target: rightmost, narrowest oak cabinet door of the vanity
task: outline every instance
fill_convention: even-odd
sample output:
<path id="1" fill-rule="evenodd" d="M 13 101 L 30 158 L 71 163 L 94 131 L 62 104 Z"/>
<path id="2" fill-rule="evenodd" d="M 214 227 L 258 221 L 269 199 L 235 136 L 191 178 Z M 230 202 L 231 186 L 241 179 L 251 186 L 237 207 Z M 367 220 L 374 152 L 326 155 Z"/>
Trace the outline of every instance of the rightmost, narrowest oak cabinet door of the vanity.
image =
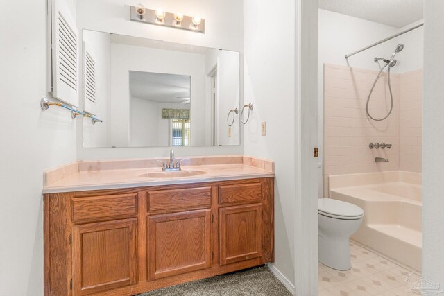
<path id="1" fill-rule="evenodd" d="M 220 265 L 262 256 L 261 204 L 219 209 Z"/>

